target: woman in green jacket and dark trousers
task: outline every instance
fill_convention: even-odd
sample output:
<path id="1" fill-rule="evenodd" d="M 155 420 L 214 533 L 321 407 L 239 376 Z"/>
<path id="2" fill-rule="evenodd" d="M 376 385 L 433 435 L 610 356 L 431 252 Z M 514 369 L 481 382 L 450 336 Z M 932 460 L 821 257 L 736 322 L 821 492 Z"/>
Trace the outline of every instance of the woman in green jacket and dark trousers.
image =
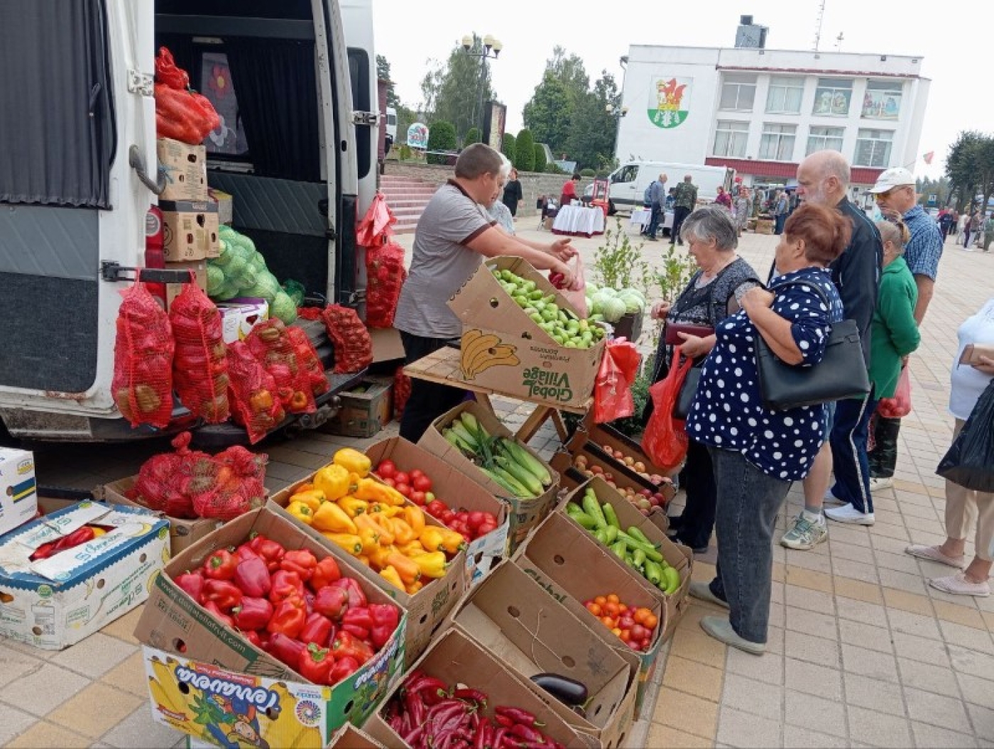
<path id="1" fill-rule="evenodd" d="M 874 312 L 870 344 L 870 379 L 874 397 L 894 397 L 901 370 L 908 355 L 918 348 L 921 336 L 914 322 L 914 305 L 918 289 L 905 258 L 908 227 L 901 222 L 877 222 L 884 244 L 884 272 L 880 277 L 877 310 Z M 894 468 L 898 462 L 898 433 L 901 419 L 874 414 L 873 437 L 876 443 L 870 452 L 870 488 L 886 489 L 894 484 Z"/>

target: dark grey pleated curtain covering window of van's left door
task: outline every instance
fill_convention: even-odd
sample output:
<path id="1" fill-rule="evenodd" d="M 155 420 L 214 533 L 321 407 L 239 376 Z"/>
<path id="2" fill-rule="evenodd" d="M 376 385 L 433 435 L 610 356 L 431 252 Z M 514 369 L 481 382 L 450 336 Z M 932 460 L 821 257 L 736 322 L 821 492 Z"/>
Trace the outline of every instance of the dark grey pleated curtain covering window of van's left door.
<path id="1" fill-rule="evenodd" d="M 0 2 L 0 203 L 110 208 L 106 33 L 103 0 Z"/>

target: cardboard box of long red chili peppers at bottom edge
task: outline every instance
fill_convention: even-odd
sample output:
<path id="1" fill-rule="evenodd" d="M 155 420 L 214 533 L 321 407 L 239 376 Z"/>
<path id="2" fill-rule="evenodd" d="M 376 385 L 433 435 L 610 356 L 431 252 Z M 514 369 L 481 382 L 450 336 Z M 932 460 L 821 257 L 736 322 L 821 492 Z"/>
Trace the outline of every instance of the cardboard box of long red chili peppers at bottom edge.
<path id="1" fill-rule="evenodd" d="M 431 644 L 363 728 L 387 746 L 413 749 L 596 745 L 458 630 Z"/>

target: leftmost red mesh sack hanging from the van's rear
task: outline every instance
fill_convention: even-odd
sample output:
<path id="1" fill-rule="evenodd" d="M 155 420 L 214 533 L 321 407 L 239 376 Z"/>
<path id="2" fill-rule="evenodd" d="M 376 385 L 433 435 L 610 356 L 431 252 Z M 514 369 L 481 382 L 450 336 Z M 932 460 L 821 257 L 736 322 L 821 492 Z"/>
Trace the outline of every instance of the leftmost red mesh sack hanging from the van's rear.
<path id="1" fill-rule="evenodd" d="M 173 341 L 169 316 L 136 282 L 121 292 L 114 341 L 114 403 L 131 426 L 163 429 L 173 415 Z"/>

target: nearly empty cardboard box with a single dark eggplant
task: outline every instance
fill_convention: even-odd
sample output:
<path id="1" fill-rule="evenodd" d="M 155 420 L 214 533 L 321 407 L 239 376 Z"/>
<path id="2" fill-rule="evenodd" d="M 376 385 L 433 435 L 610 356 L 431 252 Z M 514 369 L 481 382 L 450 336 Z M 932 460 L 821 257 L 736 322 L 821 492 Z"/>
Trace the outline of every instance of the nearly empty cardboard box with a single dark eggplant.
<path id="1" fill-rule="evenodd" d="M 517 674 L 579 733 L 603 747 L 625 746 L 635 714 L 638 665 L 622 657 L 509 561 L 498 564 L 449 615 L 452 627 Z M 586 685 L 581 717 L 534 682 L 555 673 Z"/>

